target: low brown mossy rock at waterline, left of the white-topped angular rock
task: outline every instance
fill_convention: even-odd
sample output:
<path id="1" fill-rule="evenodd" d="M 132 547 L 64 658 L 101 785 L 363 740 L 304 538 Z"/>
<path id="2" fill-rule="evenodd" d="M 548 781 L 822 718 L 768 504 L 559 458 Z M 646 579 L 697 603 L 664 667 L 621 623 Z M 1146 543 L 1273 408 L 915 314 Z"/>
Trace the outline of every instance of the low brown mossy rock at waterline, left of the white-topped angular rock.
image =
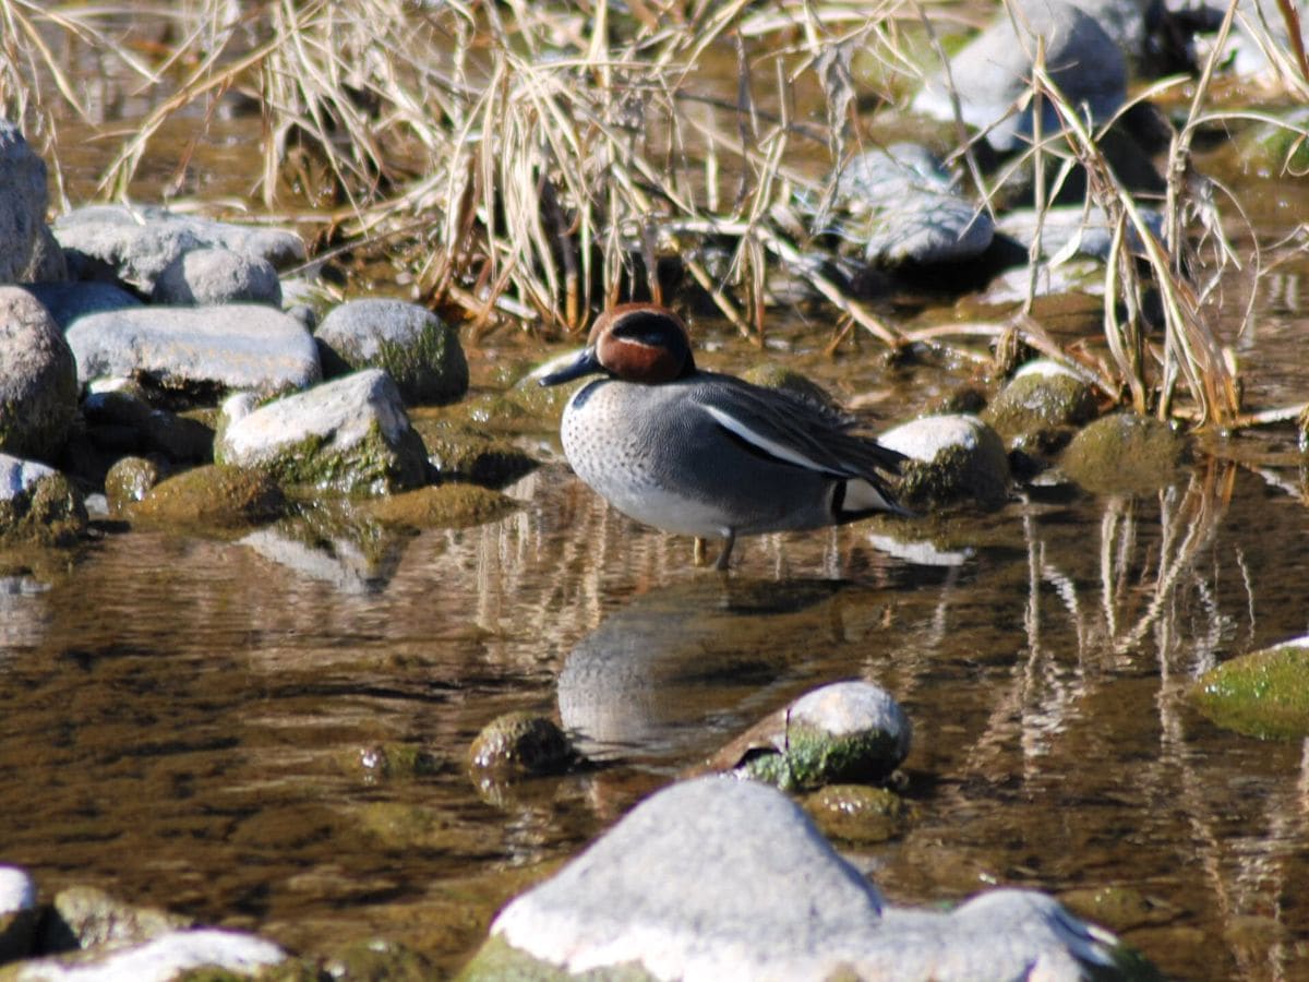
<path id="1" fill-rule="evenodd" d="M 147 522 L 230 530 L 274 521 L 285 507 L 281 488 L 266 471 L 209 464 L 160 482 L 130 515 Z"/>

